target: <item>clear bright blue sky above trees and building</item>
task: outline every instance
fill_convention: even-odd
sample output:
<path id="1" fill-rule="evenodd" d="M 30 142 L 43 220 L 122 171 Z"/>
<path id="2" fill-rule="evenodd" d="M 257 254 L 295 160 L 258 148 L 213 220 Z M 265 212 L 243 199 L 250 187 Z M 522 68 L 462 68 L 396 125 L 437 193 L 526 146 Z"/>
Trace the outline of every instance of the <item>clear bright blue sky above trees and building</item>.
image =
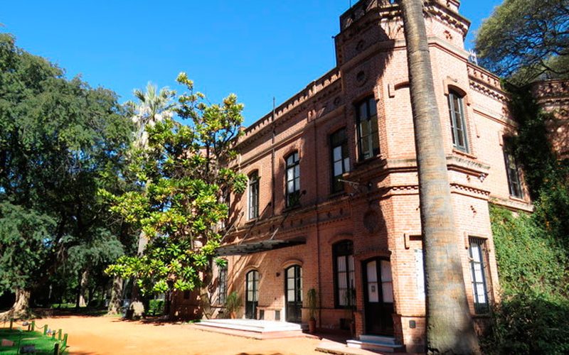
<path id="1" fill-rule="evenodd" d="M 219 102 L 245 104 L 245 124 L 335 65 L 339 15 L 349 0 L 5 0 L 0 31 L 17 45 L 114 90 L 120 102 L 151 81 L 176 88 L 185 71 Z M 355 0 L 353 2 L 356 2 Z M 501 0 L 462 0 L 474 31 Z"/>

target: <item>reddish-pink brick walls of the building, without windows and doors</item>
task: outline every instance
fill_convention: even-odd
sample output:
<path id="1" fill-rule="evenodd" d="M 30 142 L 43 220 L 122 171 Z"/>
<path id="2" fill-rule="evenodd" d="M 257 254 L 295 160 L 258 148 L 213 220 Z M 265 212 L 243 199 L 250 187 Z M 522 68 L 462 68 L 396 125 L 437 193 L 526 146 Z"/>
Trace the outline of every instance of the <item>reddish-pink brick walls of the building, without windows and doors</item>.
<path id="1" fill-rule="evenodd" d="M 275 310 L 285 320 L 285 269 L 301 266 L 303 301 L 309 288 L 318 291 L 317 327 L 337 330 L 351 312 L 335 307 L 332 249 L 336 242 L 350 240 L 355 259 L 356 333 L 368 332 L 364 262 L 383 258 L 390 261 L 393 278 L 393 337 L 408 351 L 420 351 L 425 341 L 425 299 L 418 280 L 422 238 L 405 41 L 400 18 L 388 1 L 360 1 L 356 7 L 362 4 L 366 12 L 351 24 L 342 22 L 342 31 L 336 35 L 339 66 L 277 107 L 275 116 L 267 114 L 252 124 L 240 140 L 237 168 L 246 174 L 258 170 L 261 215 L 254 220 L 248 220 L 247 213 L 241 219 L 235 217 L 247 211 L 248 192 L 233 196 L 233 220 L 238 222 L 228 244 L 271 238 L 302 239 L 305 244 L 228 256 L 229 292 L 235 290 L 244 299 L 245 275 L 257 270 L 258 309 L 265 311 L 265 320 L 274 319 Z M 468 237 L 486 241 L 485 273 L 490 298 L 496 300 L 499 284 L 488 202 L 528 211 L 531 202 L 528 197 L 509 195 L 502 137 L 515 133 L 516 121 L 506 109 L 507 97 L 498 78 L 467 62 L 463 41 L 468 23 L 455 12 L 458 5 L 458 1 L 431 4 L 427 31 L 457 224 L 456 246 L 474 314 Z M 467 153 L 452 146 L 447 99 L 452 91 L 464 102 Z M 359 161 L 355 104 L 370 96 L 377 102 L 380 154 Z M 340 128 L 346 129 L 349 142 L 351 172 L 344 179 L 351 183 L 345 184 L 344 193 L 331 194 L 329 135 Z M 302 195 L 299 207 L 286 209 L 285 159 L 293 151 L 299 152 Z M 302 321 L 307 320 L 304 309 Z"/>

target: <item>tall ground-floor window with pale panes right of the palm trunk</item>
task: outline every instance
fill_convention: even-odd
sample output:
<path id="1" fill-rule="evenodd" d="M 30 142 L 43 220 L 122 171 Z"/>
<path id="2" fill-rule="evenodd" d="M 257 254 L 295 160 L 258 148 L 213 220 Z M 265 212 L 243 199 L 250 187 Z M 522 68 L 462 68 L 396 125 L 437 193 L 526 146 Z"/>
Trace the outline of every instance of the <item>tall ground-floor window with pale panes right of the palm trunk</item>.
<path id="1" fill-rule="evenodd" d="M 470 271 L 472 272 L 472 294 L 474 312 L 489 312 L 488 288 L 486 285 L 486 261 L 484 258 L 484 239 L 469 238 Z"/>

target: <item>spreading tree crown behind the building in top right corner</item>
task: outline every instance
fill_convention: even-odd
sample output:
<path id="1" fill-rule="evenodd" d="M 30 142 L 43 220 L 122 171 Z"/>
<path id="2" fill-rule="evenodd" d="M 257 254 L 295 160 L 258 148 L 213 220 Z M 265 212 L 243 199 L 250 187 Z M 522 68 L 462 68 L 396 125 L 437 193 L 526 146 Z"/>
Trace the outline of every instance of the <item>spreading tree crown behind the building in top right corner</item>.
<path id="1" fill-rule="evenodd" d="M 568 77 L 568 18 L 568 0 L 505 0 L 477 33 L 481 64 L 516 84 Z"/>

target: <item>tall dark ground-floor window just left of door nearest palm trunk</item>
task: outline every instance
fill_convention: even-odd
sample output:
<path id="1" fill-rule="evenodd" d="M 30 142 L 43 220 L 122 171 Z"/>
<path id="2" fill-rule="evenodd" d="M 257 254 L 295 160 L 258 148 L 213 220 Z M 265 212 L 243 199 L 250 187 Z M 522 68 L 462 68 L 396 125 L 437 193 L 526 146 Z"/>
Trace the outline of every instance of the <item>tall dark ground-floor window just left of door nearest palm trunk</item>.
<path id="1" fill-rule="evenodd" d="M 336 286 L 336 306 L 353 307 L 356 301 L 353 278 L 353 243 L 340 241 L 333 246 L 334 285 Z"/>

